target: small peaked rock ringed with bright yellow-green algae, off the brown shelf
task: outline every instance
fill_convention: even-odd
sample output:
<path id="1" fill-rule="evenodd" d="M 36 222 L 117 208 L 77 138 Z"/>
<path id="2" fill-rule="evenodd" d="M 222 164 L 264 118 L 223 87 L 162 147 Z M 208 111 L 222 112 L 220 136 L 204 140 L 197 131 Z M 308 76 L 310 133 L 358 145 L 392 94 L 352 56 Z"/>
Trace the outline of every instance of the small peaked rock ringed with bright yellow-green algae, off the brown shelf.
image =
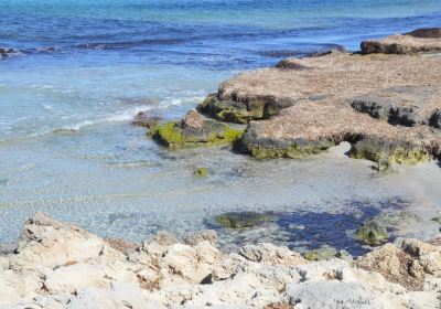
<path id="1" fill-rule="evenodd" d="M 149 135 L 171 149 L 179 149 L 233 143 L 241 137 L 243 130 L 204 120 L 195 110 L 190 110 L 181 121 L 160 125 L 152 128 Z"/>

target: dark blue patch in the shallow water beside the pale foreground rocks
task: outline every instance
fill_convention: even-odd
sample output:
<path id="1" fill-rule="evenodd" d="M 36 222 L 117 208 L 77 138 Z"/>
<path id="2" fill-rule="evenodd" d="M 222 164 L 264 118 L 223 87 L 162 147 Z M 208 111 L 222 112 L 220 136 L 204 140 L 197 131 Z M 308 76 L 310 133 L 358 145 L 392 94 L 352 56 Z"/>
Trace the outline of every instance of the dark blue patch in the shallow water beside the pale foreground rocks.
<path id="1" fill-rule="evenodd" d="M 408 202 L 401 199 L 375 203 L 351 201 L 346 211 L 338 212 L 266 212 L 263 214 L 277 219 L 250 228 L 223 228 L 213 222 L 206 222 L 206 225 L 218 232 L 220 246 L 226 248 L 233 247 L 232 244 L 240 247 L 250 243 L 271 242 L 297 252 L 333 247 L 336 251 L 345 249 L 356 257 L 369 252 L 369 247 L 355 238 L 355 232 L 362 223 L 385 210 L 398 211 L 406 204 Z"/>

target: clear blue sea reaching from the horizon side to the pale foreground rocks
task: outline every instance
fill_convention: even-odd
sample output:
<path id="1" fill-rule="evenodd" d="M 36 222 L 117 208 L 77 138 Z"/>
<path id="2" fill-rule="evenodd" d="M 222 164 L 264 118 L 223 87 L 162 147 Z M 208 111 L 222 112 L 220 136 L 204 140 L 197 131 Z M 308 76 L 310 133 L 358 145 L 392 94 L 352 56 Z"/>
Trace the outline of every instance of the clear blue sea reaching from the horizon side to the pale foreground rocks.
<path id="1" fill-rule="evenodd" d="M 438 0 L 0 0 L 0 46 L 18 51 L 0 60 L 0 242 L 17 238 L 39 210 L 140 241 L 160 228 L 204 228 L 224 211 L 304 213 L 291 215 L 295 222 L 315 213 L 326 222 L 330 213 L 411 203 L 418 196 L 400 177 L 375 177 L 366 162 L 170 152 L 130 119 L 140 110 L 174 119 L 239 71 L 333 44 L 356 50 L 363 39 L 440 20 Z M 193 177 L 200 166 L 209 168 L 207 179 Z M 314 246 L 306 236 L 293 242 L 283 224 L 219 233 L 225 246 Z M 326 228 L 316 233 L 327 241 L 315 245 L 351 234 Z"/>

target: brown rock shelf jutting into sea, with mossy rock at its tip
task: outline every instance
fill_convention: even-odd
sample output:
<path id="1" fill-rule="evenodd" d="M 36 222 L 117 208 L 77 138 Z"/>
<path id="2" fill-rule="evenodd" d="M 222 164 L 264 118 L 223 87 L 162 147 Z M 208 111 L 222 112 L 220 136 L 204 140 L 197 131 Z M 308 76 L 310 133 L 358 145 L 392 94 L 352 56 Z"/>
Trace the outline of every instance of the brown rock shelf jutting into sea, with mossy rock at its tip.
<path id="1" fill-rule="evenodd" d="M 332 51 L 238 74 L 196 109 L 222 122 L 246 125 L 244 134 L 218 139 L 219 125 L 211 122 L 214 131 L 193 127 L 190 142 L 180 143 L 212 145 L 207 136 L 214 135 L 215 145 L 233 142 L 255 158 L 303 158 L 348 141 L 352 158 L 377 162 L 379 170 L 439 159 L 440 33 L 420 29 L 362 42 L 361 53 Z M 180 129 L 159 128 L 166 126 Z M 158 140 L 176 148 L 166 139 Z"/>

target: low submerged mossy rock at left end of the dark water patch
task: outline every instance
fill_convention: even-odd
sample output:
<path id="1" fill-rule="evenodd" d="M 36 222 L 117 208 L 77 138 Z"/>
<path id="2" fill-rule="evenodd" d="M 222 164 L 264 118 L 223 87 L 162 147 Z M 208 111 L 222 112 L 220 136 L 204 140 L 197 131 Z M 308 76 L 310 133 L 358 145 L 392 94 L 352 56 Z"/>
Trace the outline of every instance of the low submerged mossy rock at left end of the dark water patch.
<path id="1" fill-rule="evenodd" d="M 252 227 L 273 220 L 272 215 L 255 212 L 230 212 L 216 216 L 216 222 L 227 228 Z"/>

